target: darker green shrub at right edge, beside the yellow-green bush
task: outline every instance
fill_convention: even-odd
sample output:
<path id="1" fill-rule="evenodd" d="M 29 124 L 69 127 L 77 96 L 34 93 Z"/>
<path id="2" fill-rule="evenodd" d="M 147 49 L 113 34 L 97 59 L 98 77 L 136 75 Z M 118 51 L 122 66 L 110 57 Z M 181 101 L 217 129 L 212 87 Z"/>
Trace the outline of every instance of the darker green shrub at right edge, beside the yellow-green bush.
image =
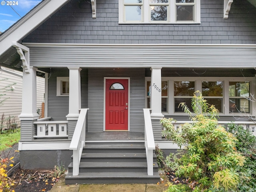
<path id="1" fill-rule="evenodd" d="M 256 137 L 251 130 L 236 124 L 228 124 L 228 131 L 236 137 L 236 150 L 245 157 L 244 166 L 239 169 L 239 192 L 256 191 Z"/>

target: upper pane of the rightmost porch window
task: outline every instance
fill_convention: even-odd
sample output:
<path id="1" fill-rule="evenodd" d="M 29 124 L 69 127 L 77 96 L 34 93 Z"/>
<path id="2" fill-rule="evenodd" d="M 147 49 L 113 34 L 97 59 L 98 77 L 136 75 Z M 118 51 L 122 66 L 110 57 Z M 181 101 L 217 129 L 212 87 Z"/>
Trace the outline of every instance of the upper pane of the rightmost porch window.
<path id="1" fill-rule="evenodd" d="M 248 97 L 250 96 L 249 82 L 229 82 L 230 97 Z"/>

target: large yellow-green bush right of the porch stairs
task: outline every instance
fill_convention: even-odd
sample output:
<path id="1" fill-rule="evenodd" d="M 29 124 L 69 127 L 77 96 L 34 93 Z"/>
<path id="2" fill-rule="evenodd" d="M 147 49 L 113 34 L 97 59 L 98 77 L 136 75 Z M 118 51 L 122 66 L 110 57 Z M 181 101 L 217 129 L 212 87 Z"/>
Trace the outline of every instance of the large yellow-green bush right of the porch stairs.
<path id="1" fill-rule="evenodd" d="M 165 128 L 162 135 L 185 149 L 180 158 L 168 161 L 178 164 L 176 175 L 186 180 L 183 184 L 170 184 L 166 191 L 238 191 L 237 170 L 244 165 L 245 158 L 236 151 L 237 139 L 218 124 L 218 110 L 200 92 L 195 92 L 192 98 L 194 115 L 185 103 L 180 106 L 190 115 L 191 123 L 180 128 L 174 127 L 172 118 L 163 118 L 160 123 Z"/>

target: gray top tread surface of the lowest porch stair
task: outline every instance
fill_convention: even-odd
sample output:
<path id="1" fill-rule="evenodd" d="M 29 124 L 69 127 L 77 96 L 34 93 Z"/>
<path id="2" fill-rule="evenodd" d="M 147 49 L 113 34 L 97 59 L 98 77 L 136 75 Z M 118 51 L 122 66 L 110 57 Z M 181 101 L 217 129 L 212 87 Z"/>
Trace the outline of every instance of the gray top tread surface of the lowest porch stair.
<path id="1" fill-rule="evenodd" d="M 82 172 L 78 176 L 68 173 L 65 178 L 160 178 L 160 176 L 158 172 L 154 172 L 153 175 L 148 175 L 146 172 Z"/>

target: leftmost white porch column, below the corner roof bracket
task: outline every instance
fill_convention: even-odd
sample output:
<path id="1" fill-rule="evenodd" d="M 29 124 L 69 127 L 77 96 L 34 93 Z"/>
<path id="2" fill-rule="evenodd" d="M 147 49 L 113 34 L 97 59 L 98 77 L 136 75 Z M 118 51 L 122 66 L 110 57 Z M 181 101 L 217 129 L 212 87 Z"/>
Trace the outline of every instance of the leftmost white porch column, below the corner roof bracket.
<path id="1" fill-rule="evenodd" d="M 35 120 L 39 115 L 36 113 L 36 70 L 30 66 L 30 72 L 23 68 L 22 78 L 22 112 L 20 120 Z"/>

